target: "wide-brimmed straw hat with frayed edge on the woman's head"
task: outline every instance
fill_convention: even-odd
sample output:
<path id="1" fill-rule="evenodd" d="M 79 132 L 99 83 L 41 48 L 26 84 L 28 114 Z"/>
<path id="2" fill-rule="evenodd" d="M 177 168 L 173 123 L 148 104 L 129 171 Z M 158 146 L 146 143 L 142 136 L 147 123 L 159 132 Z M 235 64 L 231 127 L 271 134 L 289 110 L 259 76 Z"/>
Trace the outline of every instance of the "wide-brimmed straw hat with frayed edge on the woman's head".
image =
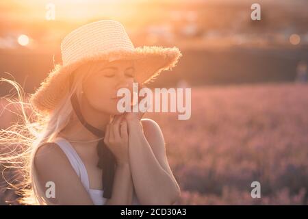
<path id="1" fill-rule="evenodd" d="M 36 110 L 51 112 L 69 89 L 69 75 L 89 61 L 135 60 L 136 80 L 153 81 L 163 70 L 171 70 L 181 57 L 177 47 L 135 48 L 118 21 L 101 20 L 70 32 L 61 43 L 62 64 L 56 64 L 40 87 L 30 94 Z"/>

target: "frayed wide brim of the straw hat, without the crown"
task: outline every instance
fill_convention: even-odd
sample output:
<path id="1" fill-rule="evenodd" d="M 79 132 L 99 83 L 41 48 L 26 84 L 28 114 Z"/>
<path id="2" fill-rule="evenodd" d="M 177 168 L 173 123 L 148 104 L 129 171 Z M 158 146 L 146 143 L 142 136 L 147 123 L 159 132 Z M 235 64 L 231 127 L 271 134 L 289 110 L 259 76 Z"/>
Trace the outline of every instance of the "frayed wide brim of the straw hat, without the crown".
<path id="1" fill-rule="evenodd" d="M 68 76 L 79 66 L 87 62 L 106 60 L 135 60 L 136 81 L 149 83 L 164 70 L 171 70 L 182 56 L 177 47 L 137 47 L 133 51 L 102 51 L 94 55 L 83 57 L 67 66 L 55 65 L 48 77 L 40 83 L 40 87 L 30 94 L 29 101 L 41 112 L 51 112 L 57 107 L 65 92 L 68 92 Z"/>

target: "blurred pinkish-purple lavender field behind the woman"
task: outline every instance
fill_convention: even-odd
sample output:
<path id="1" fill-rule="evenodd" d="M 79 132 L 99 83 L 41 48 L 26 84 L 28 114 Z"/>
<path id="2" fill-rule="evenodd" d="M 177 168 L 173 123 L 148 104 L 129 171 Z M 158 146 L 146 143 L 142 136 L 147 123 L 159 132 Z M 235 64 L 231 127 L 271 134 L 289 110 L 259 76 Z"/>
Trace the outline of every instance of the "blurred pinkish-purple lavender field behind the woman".
<path id="1" fill-rule="evenodd" d="M 180 205 L 307 205 L 307 109 L 308 84 L 268 83 L 192 88 L 190 120 L 145 117 L 164 133 Z"/>

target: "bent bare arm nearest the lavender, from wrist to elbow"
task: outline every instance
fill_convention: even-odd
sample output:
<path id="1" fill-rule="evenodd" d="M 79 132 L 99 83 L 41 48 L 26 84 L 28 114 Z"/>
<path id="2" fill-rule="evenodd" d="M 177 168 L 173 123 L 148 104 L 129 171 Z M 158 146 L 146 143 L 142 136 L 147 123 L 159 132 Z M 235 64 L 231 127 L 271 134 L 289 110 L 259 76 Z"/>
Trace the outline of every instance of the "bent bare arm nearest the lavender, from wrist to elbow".
<path id="1" fill-rule="evenodd" d="M 180 189 L 168 166 L 162 131 L 153 120 L 134 120 L 128 125 L 129 162 L 140 203 L 172 205 L 178 200 Z M 148 129 L 146 133 L 142 126 Z"/>

